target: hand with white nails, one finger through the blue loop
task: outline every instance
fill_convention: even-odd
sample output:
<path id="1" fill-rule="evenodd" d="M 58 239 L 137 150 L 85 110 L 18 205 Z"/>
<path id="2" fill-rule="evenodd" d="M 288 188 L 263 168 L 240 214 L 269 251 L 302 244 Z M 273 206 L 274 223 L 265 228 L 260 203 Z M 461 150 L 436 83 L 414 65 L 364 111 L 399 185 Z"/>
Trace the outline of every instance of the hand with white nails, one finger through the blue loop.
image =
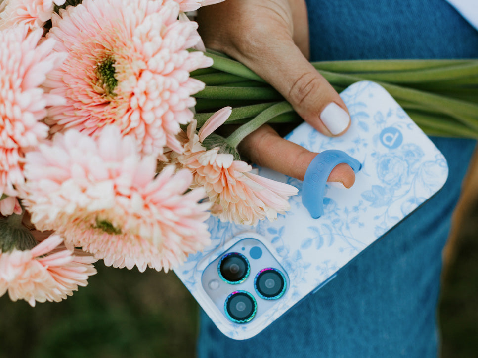
<path id="1" fill-rule="evenodd" d="M 328 136 L 350 126 L 344 102 L 309 63 L 304 0 L 227 0 L 198 11 L 199 32 L 208 48 L 242 62 L 274 86 L 310 125 Z M 304 179 L 316 153 L 281 138 L 264 125 L 239 150 L 255 163 Z M 355 174 L 339 164 L 329 176 L 346 187 Z"/>

